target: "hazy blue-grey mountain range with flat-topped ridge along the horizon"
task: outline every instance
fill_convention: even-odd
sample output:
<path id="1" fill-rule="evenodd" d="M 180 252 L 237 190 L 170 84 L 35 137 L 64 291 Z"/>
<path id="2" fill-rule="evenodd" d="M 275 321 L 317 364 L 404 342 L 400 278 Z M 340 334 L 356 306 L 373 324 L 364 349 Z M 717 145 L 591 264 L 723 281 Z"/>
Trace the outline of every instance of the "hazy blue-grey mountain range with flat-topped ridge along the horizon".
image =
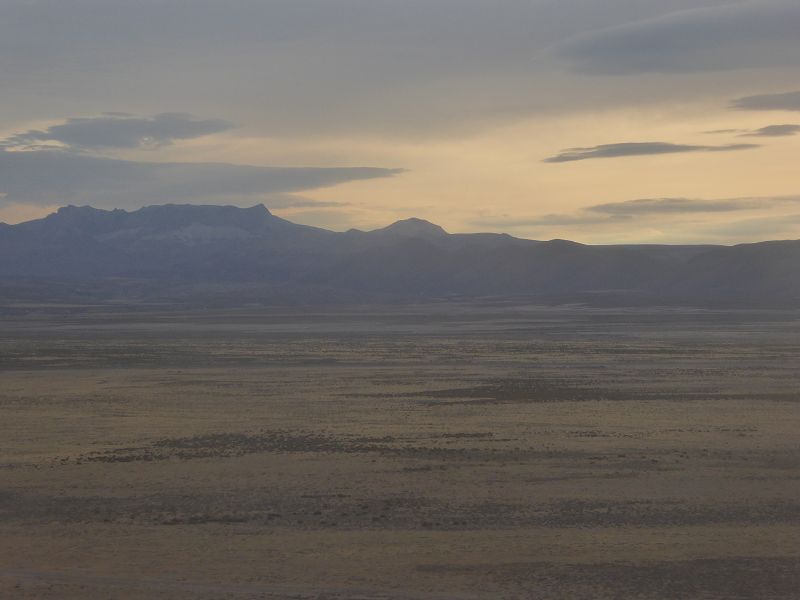
<path id="1" fill-rule="evenodd" d="M 68 206 L 0 226 L 6 300 L 407 301 L 526 296 L 800 307 L 800 242 L 587 246 L 449 234 L 421 219 L 337 233 L 263 206 Z"/>

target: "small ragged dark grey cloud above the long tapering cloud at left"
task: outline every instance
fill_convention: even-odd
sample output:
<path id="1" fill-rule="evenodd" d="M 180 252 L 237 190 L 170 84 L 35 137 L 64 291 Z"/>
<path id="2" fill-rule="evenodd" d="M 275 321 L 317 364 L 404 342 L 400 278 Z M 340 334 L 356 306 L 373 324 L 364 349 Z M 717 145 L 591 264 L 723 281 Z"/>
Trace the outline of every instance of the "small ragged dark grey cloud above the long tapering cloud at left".
<path id="1" fill-rule="evenodd" d="M 100 117 L 71 118 L 47 129 L 18 133 L 0 142 L 6 147 L 36 148 L 57 142 L 67 148 L 156 148 L 175 140 L 188 140 L 231 129 L 222 119 L 196 119 L 185 113 L 138 117 L 106 113 Z"/>

